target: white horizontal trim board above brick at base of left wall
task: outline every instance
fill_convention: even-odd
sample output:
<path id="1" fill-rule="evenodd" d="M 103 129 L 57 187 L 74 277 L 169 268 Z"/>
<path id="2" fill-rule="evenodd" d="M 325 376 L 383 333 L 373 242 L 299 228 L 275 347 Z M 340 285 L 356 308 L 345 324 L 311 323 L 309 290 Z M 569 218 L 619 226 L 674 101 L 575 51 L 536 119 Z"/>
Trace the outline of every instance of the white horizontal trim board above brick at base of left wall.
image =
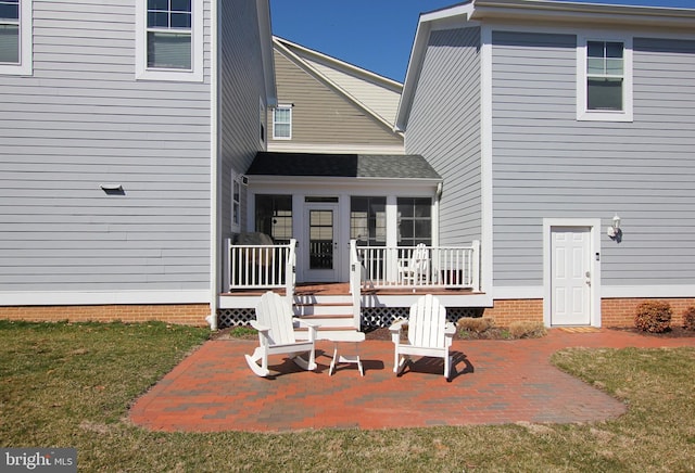
<path id="1" fill-rule="evenodd" d="M 210 291 L 42 291 L 1 292 L 2 306 L 93 306 L 135 304 L 210 304 Z"/>

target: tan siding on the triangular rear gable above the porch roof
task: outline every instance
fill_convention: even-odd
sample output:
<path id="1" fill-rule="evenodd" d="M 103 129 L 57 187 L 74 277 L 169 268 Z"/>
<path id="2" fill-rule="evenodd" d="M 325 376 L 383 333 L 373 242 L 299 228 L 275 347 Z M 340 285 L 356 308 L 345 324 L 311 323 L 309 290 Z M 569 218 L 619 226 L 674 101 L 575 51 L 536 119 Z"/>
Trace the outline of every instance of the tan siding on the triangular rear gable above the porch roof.
<path id="1" fill-rule="evenodd" d="M 403 140 L 344 95 L 275 51 L 279 104 L 293 104 L 292 143 L 402 145 Z M 273 140 L 273 112 L 268 113 Z"/>

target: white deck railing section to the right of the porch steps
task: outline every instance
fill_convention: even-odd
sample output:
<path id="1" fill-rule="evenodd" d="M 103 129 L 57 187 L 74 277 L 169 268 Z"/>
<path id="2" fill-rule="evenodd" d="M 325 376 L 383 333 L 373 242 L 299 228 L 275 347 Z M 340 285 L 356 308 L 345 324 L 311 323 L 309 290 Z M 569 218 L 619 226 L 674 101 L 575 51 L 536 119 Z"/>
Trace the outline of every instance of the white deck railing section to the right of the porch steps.
<path id="1" fill-rule="evenodd" d="M 353 261 L 353 257 L 357 261 Z M 351 252 L 351 265 L 353 263 L 362 266 L 362 279 L 367 287 L 480 291 L 479 241 L 470 246 L 356 246 L 355 252 Z"/>

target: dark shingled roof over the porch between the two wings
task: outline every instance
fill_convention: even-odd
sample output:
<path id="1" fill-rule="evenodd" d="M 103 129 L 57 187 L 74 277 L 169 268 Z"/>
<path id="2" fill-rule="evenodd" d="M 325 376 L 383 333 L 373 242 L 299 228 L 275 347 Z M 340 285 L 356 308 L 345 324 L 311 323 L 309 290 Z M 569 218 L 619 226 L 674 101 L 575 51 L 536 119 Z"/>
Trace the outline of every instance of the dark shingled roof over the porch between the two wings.
<path id="1" fill-rule="evenodd" d="M 330 154 L 258 152 L 248 176 L 416 179 L 442 177 L 419 154 Z"/>

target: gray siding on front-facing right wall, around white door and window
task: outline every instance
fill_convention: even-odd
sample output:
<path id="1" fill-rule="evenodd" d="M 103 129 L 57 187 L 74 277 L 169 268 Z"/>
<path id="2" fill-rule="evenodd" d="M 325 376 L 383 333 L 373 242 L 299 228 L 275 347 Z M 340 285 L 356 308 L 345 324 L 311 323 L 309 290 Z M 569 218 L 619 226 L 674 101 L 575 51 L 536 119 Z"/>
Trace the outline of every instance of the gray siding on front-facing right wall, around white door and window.
<path id="1" fill-rule="evenodd" d="M 604 285 L 695 283 L 695 41 L 633 41 L 634 123 L 592 123 L 574 35 L 493 35 L 496 286 L 542 284 L 544 217 L 602 219 Z"/>

